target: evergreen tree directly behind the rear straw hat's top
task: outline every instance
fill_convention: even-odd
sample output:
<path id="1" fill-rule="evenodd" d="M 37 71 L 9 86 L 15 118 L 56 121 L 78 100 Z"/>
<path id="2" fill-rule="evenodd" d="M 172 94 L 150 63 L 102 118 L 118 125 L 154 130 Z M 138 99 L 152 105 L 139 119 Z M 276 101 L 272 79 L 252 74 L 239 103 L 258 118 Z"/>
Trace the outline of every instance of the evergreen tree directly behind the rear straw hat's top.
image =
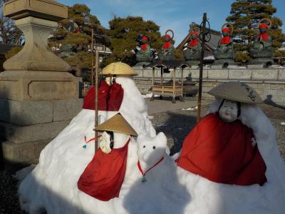
<path id="1" fill-rule="evenodd" d="M 160 36 L 160 26 L 153 21 L 144 21 L 142 17 L 128 16 L 126 18 L 114 17 L 109 21 L 110 48 L 113 54 L 104 61 L 104 66 L 113 61 L 124 61 L 130 65 L 135 63 L 131 50 L 138 46 L 136 41 L 139 34 L 150 36 L 150 46 L 159 51 L 163 41 Z"/>

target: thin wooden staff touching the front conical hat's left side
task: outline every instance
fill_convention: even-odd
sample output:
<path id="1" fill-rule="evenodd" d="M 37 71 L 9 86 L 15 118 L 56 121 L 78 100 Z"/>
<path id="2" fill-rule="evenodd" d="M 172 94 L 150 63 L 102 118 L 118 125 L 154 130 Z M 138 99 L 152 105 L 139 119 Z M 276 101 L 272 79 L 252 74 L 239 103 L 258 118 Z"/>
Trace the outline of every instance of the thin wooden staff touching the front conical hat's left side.
<path id="1" fill-rule="evenodd" d="M 95 53 L 95 128 L 98 126 L 98 79 L 99 79 L 99 51 Z M 98 150 L 98 132 L 95 131 L 95 151 Z"/>

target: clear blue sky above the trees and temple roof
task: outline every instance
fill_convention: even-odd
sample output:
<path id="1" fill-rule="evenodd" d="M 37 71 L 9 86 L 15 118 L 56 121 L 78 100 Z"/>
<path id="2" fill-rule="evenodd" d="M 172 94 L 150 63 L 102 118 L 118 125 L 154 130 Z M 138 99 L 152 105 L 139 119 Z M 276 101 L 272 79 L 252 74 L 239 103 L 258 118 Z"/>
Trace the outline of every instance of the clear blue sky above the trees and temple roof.
<path id="1" fill-rule="evenodd" d="M 229 16 L 231 4 L 234 0 L 57 0 L 62 4 L 86 4 L 91 14 L 97 16 L 100 23 L 108 28 L 108 21 L 113 16 L 142 16 L 144 20 L 155 21 L 160 26 L 161 34 L 167 29 L 175 32 L 177 46 L 187 35 L 189 24 L 195 21 L 200 24 L 204 12 L 211 24 L 211 28 L 218 30 Z M 278 16 L 283 22 L 285 32 L 285 0 L 273 0 Z"/>

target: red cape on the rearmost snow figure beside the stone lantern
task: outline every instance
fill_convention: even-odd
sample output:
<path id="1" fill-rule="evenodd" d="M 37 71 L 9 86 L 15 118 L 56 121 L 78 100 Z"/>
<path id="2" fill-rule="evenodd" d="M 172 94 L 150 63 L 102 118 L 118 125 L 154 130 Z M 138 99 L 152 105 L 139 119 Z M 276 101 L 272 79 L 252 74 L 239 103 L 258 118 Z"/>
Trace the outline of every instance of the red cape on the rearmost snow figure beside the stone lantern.
<path id="1" fill-rule="evenodd" d="M 123 102 L 124 90 L 122 86 L 114 82 L 111 86 L 106 81 L 101 81 L 98 89 L 98 110 L 119 111 Z M 92 86 L 86 94 L 83 103 L 84 109 L 95 109 L 95 86 Z"/>

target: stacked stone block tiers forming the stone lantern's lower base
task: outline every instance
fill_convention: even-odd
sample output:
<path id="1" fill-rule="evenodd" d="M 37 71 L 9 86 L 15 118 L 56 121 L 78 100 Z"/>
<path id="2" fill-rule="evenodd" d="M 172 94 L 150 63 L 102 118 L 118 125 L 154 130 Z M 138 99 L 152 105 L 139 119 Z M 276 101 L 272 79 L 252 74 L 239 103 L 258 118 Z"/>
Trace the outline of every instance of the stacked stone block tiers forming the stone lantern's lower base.
<path id="1" fill-rule="evenodd" d="M 0 142 L 4 164 L 36 163 L 41 150 L 82 109 L 83 99 L 14 101 L 0 98 Z"/>

